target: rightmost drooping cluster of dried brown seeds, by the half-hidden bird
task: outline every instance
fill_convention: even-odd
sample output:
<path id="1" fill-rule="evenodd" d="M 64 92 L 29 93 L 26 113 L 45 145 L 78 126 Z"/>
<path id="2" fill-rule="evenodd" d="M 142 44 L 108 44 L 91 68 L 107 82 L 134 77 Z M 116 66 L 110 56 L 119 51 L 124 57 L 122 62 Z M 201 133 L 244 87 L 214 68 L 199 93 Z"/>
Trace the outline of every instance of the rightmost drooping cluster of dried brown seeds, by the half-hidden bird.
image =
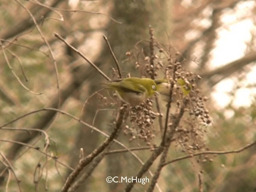
<path id="1" fill-rule="evenodd" d="M 180 66 L 180 63 L 176 63 L 169 65 L 166 70 L 169 80 L 177 86 L 174 86 L 172 93 L 172 98 L 179 98 L 173 102 L 175 111 L 184 107 L 182 98 L 187 97 L 189 101 L 186 105 L 186 113 L 176 127 L 173 138 L 176 146 L 181 147 L 183 152 L 192 154 L 206 148 L 206 126 L 211 123 L 211 120 L 204 104 L 207 98 L 200 96 L 200 90 L 196 87 L 196 81 L 200 80 L 200 76 L 186 72 Z M 182 79 L 184 84 L 179 84 L 178 79 Z"/>

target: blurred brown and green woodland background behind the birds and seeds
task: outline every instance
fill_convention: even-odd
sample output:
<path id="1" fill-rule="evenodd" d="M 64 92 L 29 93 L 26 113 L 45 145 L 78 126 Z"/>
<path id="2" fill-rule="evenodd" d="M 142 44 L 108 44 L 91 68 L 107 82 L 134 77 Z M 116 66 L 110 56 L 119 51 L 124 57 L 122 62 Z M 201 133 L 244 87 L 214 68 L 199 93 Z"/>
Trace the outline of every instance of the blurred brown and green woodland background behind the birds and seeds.
<path id="1" fill-rule="evenodd" d="M 58 108 L 112 132 L 113 108 L 106 110 L 102 93 L 95 94 L 105 79 L 54 32 L 112 77 L 116 65 L 106 35 L 122 72 L 140 76 L 129 55 L 148 46 L 151 25 L 158 42 L 180 53 L 182 67 L 202 76 L 198 87 L 210 98 L 213 121 L 206 148 L 236 150 L 255 140 L 254 0 L 1 0 L 0 7 L 0 190 L 60 191 L 79 162 L 80 148 L 86 156 L 105 139 L 69 116 L 40 109 Z M 118 136 L 129 148 L 146 145 L 129 139 L 123 131 Z M 122 149 L 115 143 L 110 148 Z M 146 162 L 152 152 L 134 153 Z M 168 160 L 186 154 L 172 146 Z M 134 176 L 142 166 L 130 152 L 99 157 L 98 163 L 92 173 L 93 165 L 85 169 L 88 178 L 76 191 L 123 191 L 127 183 L 108 184 L 106 177 Z M 154 191 L 253 191 L 255 163 L 255 146 L 176 161 L 164 166 Z M 136 184 L 133 190 L 148 186 Z"/>

